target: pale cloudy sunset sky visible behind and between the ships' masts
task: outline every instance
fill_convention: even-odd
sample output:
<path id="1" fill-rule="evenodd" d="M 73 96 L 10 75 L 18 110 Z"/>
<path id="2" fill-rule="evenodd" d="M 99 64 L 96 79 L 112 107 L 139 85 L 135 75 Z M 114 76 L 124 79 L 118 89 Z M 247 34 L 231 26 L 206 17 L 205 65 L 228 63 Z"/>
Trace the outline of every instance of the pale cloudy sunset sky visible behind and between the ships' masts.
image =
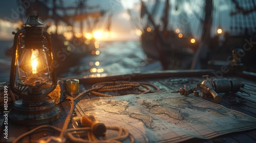
<path id="1" fill-rule="evenodd" d="M 25 1 L 31 1 L 31 0 L 25 0 Z M 64 1 L 64 6 L 75 6 L 77 1 Z M 151 3 L 152 0 L 144 0 L 145 3 Z M 163 7 L 164 0 L 160 0 L 161 6 Z M 198 20 L 196 20 L 196 17 L 193 13 L 201 13 L 202 11 L 202 0 L 193 1 L 193 5 L 189 3 L 184 3 L 184 9 L 186 10 L 186 13 L 188 14 L 188 20 L 191 22 L 191 30 L 193 33 L 196 32 L 196 28 L 198 27 Z M 227 6 L 229 3 L 226 1 L 221 1 L 221 10 L 227 11 Z M 12 40 L 13 35 L 11 34 L 12 31 L 16 31 L 16 28 L 23 23 L 23 21 L 26 20 L 27 17 L 23 18 L 23 21 L 21 21 L 17 14 L 18 12 L 22 11 L 22 9 L 19 9 L 19 2 L 16 1 L 3 1 L 2 5 L 0 6 L 0 39 L 1 40 Z M 107 14 L 113 13 L 112 16 L 112 24 L 111 24 L 111 31 L 106 32 L 105 27 L 98 26 L 97 29 L 94 29 L 95 31 L 101 31 L 102 32 L 102 40 L 139 40 L 139 36 L 141 34 L 141 31 L 139 29 L 136 29 L 131 22 L 130 16 L 127 13 L 127 9 L 132 9 L 133 13 L 135 14 L 135 17 L 139 19 L 140 14 L 140 0 L 89 0 L 87 1 L 87 4 L 89 6 L 99 6 L 99 8 L 96 8 L 96 10 L 105 10 Z M 174 0 L 170 1 L 170 4 L 175 4 Z M 226 12 L 227 13 L 227 12 Z M 160 20 L 162 12 L 159 14 L 158 18 Z M 177 15 L 177 12 L 174 10 L 170 11 L 170 14 Z M 173 16 L 175 17 L 175 16 Z M 173 18 L 172 17 L 172 18 Z M 223 18 L 224 17 L 224 18 Z M 228 17 L 225 18 L 223 16 L 223 23 L 225 23 L 226 27 L 229 23 Z M 107 20 L 107 16 L 104 17 L 101 22 L 104 23 Z M 43 21 L 46 23 L 49 21 L 48 19 L 46 21 Z M 172 21 L 173 27 L 175 27 L 175 22 Z M 76 23 L 76 25 L 73 27 L 73 30 L 76 32 L 79 32 L 79 23 Z M 84 25 L 84 28 L 87 26 Z M 65 26 L 59 27 L 59 29 L 67 29 Z M 55 27 L 52 26 L 50 30 L 55 31 Z M 88 33 L 88 31 L 83 31 L 84 33 Z M 93 33 L 92 33 L 93 34 Z"/>

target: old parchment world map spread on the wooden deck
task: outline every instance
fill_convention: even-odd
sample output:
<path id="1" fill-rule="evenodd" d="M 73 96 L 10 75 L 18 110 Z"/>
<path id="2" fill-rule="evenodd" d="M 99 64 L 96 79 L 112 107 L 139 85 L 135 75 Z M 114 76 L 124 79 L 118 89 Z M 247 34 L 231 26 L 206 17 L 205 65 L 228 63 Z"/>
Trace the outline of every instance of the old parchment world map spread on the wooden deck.
<path id="1" fill-rule="evenodd" d="M 106 126 L 127 128 L 137 142 L 209 139 L 256 128 L 254 117 L 170 92 L 82 100 L 76 111 L 94 114 Z"/>

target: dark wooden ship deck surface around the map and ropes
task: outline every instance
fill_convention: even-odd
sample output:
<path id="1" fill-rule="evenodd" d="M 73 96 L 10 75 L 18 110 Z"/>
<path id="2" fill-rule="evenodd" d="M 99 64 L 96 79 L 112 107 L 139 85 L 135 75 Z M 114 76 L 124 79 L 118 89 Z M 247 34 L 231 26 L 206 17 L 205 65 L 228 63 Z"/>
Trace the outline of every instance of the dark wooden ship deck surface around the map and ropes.
<path id="1" fill-rule="evenodd" d="M 93 84 L 99 82 L 116 82 L 116 81 L 130 81 L 130 82 L 146 82 L 151 83 L 157 86 L 160 90 L 165 91 L 174 91 L 183 87 L 183 85 L 189 85 L 196 87 L 197 83 L 201 83 L 205 78 L 202 78 L 203 75 L 209 75 L 210 77 L 214 77 L 212 74 L 212 70 L 167 70 L 167 71 L 159 71 L 154 73 L 136 73 L 136 74 L 126 74 L 126 75 L 103 75 L 101 77 L 72 77 L 74 79 L 79 79 L 79 92 L 81 93 L 84 90 L 90 89 Z M 240 93 L 240 96 L 244 98 L 244 102 L 230 102 L 230 95 L 222 93 L 223 101 L 219 104 L 220 106 L 224 106 L 231 110 L 236 110 L 251 117 L 256 118 L 256 76 L 253 73 L 237 73 L 237 74 L 226 74 L 223 78 L 237 78 L 239 81 L 243 82 L 245 86 L 243 90 L 250 94 L 243 97 L 244 93 Z M 67 80 L 61 79 L 63 81 Z M 124 96 L 127 94 L 136 94 L 134 90 L 125 90 L 125 91 L 112 91 L 108 92 L 109 94 L 119 94 L 119 96 Z M 163 92 L 164 93 L 164 92 Z M 161 94 L 161 93 L 158 93 Z M 190 95 L 191 96 L 191 95 Z M 94 96 L 93 94 L 89 94 L 87 96 L 82 97 L 81 100 L 97 98 L 98 96 Z M 232 97 L 232 96 L 231 96 Z M 189 98 L 189 97 L 188 97 Z M 203 98 L 205 101 L 212 102 L 211 98 Z M 171 104 L 171 103 L 170 103 Z M 49 125 L 62 128 L 63 123 L 65 122 L 65 118 L 67 117 L 70 111 L 70 103 L 69 100 L 64 99 L 60 104 L 57 104 L 61 109 L 60 117 L 58 120 L 49 123 Z M 78 106 L 76 106 L 78 107 Z M 75 109 L 73 112 L 73 120 L 74 118 L 80 117 L 82 115 L 78 109 Z M 1 127 L 2 131 L 5 126 L 4 116 L 1 116 Z M 120 119 L 121 120 L 121 119 Z M 102 121 L 104 123 L 104 121 Z M 256 123 L 255 123 L 256 124 Z M 75 122 L 71 120 L 68 125 L 68 128 L 75 128 Z M 20 126 L 15 125 L 11 122 L 8 123 L 8 139 L 4 138 L 3 132 L 1 133 L 0 142 L 12 142 L 17 136 L 31 131 L 35 129 L 37 126 Z M 36 142 L 39 138 L 54 135 L 58 136 L 59 132 L 54 131 L 44 131 L 40 130 L 35 132 L 34 134 L 28 135 L 24 137 L 20 142 Z M 135 138 L 136 140 L 136 138 Z M 126 140 L 127 141 L 127 140 Z M 129 142 L 129 141 L 128 141 Z M 183 142 L 256 142 L 256 129 L 239 131 L 227 133 L 224 135 L 219 135 L 210 139 L 200 139 L 200 138 L 189 138 Z"/>

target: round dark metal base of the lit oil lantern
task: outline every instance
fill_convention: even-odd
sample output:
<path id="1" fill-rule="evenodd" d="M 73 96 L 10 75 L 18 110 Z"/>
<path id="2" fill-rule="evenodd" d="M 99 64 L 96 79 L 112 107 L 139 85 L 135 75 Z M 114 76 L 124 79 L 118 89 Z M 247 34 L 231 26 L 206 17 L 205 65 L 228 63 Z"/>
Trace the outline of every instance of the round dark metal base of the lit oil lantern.
<path id="1" fill-rule="evenodd" d="M 42 125 L 57 120 L 59 113 L 60 108 L 50 98 L 37 103 L 25 103 L 20 99 L 13 104 L 8 116 L 14 124 Z"/>

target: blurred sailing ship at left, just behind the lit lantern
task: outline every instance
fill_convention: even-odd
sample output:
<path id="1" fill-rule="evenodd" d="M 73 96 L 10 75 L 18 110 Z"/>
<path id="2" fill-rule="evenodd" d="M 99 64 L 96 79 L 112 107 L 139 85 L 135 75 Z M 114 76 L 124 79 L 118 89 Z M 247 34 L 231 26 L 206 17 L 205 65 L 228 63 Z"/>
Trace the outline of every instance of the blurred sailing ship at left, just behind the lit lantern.
<path id="1" fill-rule="evenodd" d="M 69 67 L 80 64 L 81 58 L 90 55 L 97 48 L 98 42 L 93 37 L 93 32 L 99 27 L 109 28 L 111 20 L 109 18 L 108 25 L 105 25 L 106 22 L 102 21 L 108 16 L 107 13 L 99 6 L 92 7 L 86 1 L 80 0 L 72 5 L 65 4 L 63 0 L 38 0 L 22 6 L 26 12 L 20 15 L 20 18 L 36 13 L 39 19 L 46 23 L 45 31 L 53 39 L 58 76 L 65 73 Z"/>

